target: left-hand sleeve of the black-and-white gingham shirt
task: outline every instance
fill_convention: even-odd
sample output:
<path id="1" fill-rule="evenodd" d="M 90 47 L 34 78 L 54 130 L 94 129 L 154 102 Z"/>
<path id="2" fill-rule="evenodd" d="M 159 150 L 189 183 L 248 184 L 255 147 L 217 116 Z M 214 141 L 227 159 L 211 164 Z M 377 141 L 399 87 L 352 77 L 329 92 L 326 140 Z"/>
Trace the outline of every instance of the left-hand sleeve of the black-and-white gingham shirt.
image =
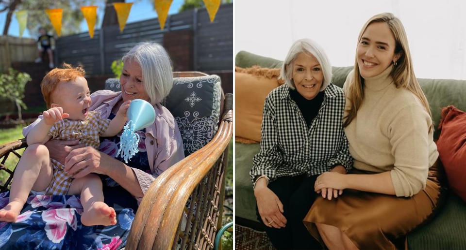
<path id="1" fill-rule="evenodd" d="M 250 171 L 252 182 L 257 176 L 267 176 L 270 181 L 276 178 L 276 170 L 283 162 L 282 153 L 278 150 L 278 136 L 274 103 L 269 95 L 264 103 L 261 149 L 252 159 L 252 169 Z"/>

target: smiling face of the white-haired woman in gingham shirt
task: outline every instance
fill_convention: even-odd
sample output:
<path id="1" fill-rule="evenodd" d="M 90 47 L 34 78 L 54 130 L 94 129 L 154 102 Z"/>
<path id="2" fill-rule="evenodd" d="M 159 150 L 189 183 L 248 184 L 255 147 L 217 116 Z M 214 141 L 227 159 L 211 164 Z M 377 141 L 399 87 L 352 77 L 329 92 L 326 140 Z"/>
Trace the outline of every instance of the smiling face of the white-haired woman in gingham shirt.
<path id="1" fill-rule="evenodd" d="M 301 52 L 291 62 L 292 79 L 296 90 L 307 100 L 311 100 L 320 91 L 324 75 L 316 57 Z"/>

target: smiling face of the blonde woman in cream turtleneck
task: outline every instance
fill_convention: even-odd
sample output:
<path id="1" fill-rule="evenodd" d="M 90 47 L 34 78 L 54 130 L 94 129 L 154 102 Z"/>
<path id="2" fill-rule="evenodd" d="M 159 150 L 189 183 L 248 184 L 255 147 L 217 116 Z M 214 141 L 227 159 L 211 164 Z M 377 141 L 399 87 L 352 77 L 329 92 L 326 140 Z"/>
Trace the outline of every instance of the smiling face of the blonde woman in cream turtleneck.
<path id="1" fill-rule="evenodd" d="M 367 26 L 356 51 L 361 75 L 376 76 L 397 61 L 400 54 L 395 54 L 395 46 L 395 38 L 386 23 L 374 22 Z"/>

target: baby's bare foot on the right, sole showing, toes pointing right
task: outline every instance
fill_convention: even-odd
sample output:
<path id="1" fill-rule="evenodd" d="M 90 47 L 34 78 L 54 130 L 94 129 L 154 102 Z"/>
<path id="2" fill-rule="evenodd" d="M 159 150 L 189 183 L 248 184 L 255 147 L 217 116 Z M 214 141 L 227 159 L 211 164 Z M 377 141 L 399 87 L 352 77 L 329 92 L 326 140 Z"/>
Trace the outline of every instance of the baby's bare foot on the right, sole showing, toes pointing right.
<path id="1" fill-rule="evenodd" d="M 85 226 L 93 225 L 115 225 L 115 209 L 103 202 L 95 202 L 92 206 L 81 215 L 81 223 Z"/>

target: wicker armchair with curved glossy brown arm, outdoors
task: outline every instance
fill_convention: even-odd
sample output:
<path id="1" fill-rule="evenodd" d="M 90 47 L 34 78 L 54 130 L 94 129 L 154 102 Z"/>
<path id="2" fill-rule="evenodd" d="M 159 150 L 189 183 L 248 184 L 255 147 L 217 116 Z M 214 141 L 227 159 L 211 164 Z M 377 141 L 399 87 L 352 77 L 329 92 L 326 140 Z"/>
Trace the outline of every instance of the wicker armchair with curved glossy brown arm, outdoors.
<path id="1" fill-rule="evenodd" d="M 174 77 L 201 75 L 206 74 L 174 73 Z M 150 185 L 135 215 L 126 250 L 214 248 L 217 230 L 222 226 L 224 173 L 228 143 L 233 135 L 232 108 L 233 94 L 225 98 L 222 94 L 215 137 L 168 168 Z M 5 161 L 9 157 L 19 160 L 17 150 L 24 147 L 27 147 L 24 138 L 0 146 L 0 171 L 10 175 L 0 191 L 7 189 L 13 177 Z M 188 200 L 190 205 L 186 206 Z"/>

